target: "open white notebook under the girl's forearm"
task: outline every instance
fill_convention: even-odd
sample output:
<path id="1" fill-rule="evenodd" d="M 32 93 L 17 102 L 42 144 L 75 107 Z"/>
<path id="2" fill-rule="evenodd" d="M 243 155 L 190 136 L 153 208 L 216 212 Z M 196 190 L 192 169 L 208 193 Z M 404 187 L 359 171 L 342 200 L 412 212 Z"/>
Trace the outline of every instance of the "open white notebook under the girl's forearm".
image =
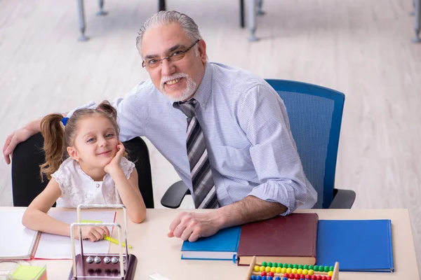
<path id="1" fill-rule="evenodd" d="M 22 225 L 25 209 L 0 211 L 0 259 L 31 260 L 70 259 L 72 258 L 72 241 L 70 237 L 51 235 L 45 232 L 29 230 Z M 50 211 L 48 215 L 65 223 L 76 223 L 76 211 Z M 82 212 L 81 219 L 114 223 L 115 211 Z M 7 225 L 7 226 L 6 226 Z M 109 228 L 112 232 L 112 228 Z M 75 239 L 75 253 L 80 253 L 79 240 Z M 109 241 L 91 242 L 83 240 L 83 253 L 108 253 Z"/>

